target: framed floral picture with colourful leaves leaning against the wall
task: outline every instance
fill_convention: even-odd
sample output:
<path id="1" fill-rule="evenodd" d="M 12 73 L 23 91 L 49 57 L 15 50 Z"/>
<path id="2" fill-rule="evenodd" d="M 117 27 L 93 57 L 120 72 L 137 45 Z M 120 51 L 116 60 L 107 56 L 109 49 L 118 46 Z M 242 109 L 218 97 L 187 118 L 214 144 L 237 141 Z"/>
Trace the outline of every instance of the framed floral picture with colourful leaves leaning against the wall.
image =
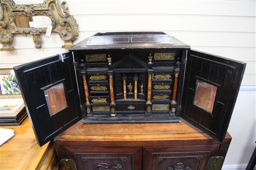
<path id="1" fill-rule="evenodd" d="M 0 95 L 20 95 L 13 69 L 0 69 Z"/>

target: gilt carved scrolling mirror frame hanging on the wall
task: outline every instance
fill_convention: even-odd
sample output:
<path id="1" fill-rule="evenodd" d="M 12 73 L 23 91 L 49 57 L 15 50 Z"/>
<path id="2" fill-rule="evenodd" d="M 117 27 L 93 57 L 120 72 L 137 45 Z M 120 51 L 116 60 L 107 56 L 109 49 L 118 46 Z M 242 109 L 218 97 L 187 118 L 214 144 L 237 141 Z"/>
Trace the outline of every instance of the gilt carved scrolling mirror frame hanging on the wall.
<path id="1" fill-rule="evenodd" d="M 59 0 L 44 0 L 41 4 L 15 4 L 13 0 L 0 0 L 0 48 L 1 51 L 15 50 L 11 46 L 13 35 L 22 34 L 33 36 L 35 48 L 41 48 L 41 33 L 46 33 L 46 27 L 20 28 L 15 24 L 18 17 L 47 16 L 51 19 L 52 33 L 58 33 L 65 42 L 62 48 L 71 48 L 78 37 L 78 24 L 72 15 L 68 13 L 67 2 L 59 5 Z M 61 11 L 61 8 L 63 12 Z"/>

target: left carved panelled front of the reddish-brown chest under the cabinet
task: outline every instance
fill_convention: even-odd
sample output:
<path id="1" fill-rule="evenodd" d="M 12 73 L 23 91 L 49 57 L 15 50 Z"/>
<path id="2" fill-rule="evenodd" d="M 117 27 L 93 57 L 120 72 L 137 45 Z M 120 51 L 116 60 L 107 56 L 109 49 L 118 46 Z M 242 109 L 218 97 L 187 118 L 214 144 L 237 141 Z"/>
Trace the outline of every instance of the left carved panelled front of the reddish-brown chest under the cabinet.
<path id="1" fill-rule="evenodd" d="M 77 170 L 141 170 L 139 147 L 68 147 L 65 153 L 63 158 L 76 157 Z"/>

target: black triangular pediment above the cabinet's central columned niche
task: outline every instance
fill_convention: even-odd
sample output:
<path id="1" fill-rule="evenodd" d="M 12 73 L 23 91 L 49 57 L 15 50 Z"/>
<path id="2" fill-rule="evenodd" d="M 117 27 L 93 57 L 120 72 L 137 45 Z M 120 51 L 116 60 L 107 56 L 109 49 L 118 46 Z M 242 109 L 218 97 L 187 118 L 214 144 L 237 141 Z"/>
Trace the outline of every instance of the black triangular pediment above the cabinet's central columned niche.
<path id="1" fill-rule="evenodd" d="M 132 54 L 128 54 L 113 64 L 112 69 L 149 69 L 148 64 Z"/>

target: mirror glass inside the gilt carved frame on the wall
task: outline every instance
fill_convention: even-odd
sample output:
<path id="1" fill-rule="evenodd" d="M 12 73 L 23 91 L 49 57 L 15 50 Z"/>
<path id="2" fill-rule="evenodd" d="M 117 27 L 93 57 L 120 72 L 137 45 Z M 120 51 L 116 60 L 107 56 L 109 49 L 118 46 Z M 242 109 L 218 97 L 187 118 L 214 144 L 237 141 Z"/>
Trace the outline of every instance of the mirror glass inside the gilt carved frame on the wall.
<path id="1" fill-rule="evenodd" d="M 16 18 L 15 24 L 19 28 L 43 28 L 51 25 L 52 21 L 47 16 L 27 16 Z"/>

